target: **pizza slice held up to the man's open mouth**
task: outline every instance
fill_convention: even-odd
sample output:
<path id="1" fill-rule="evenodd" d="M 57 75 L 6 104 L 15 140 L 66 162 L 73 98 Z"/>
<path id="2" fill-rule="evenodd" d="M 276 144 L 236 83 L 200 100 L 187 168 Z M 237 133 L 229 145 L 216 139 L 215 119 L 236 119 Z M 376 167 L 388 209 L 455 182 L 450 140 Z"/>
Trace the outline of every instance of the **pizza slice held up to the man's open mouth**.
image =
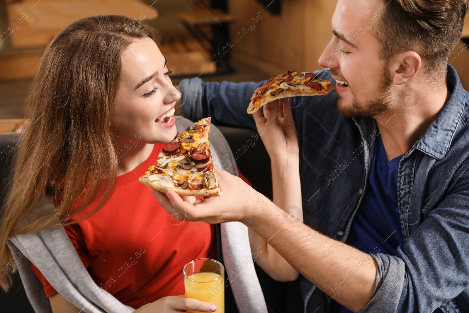
<path id="1" fill-rule="evenodd" d="M 270 78 L 264 86 L 258 87 L 251 97 L 248 113 L 253 114 L 267 102 L 294 96 L 326 95 L 334 89 L 328 80 L 315 79 L 314 73 L 292 72 Z"/>

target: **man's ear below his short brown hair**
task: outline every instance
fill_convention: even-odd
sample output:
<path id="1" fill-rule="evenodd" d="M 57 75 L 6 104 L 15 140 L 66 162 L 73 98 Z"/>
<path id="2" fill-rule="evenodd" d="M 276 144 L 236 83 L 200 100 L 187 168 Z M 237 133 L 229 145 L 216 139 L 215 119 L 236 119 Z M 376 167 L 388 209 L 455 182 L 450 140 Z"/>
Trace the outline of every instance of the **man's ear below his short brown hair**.
<path id="1" fill-rule="evenodd" d="M 407 51 L 391 57 L 387 66 L 393 83 L 401 85 L 417 75 L 422 67 L 422 59 L 418 53 Z"/>

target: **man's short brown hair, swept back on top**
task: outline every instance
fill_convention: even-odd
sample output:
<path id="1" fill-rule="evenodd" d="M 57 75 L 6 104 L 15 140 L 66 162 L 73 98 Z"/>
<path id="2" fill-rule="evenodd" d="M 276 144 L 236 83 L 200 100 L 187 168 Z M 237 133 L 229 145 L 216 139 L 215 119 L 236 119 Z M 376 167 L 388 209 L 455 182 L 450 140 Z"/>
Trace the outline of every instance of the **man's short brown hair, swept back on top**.
<path id="1" fill-rule="evenodd" d="M 469 0 L 383 1 L 376 27 L 380 58 L 388 61 L 393 55 L 415 51 L 428 78 L 440 74 L 445 80 L 446 63 L 461 39 Z"/>

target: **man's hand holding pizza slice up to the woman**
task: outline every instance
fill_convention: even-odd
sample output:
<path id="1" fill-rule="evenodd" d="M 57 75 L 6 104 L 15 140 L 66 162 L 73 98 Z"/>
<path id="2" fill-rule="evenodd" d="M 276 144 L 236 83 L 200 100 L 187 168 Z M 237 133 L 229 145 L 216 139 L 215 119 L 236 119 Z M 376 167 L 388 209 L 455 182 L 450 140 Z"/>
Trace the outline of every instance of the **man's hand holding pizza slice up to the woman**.
<path id="1" fill-rule="evenodd" d="M 246 222 L 262 214 L 263 208 L 272 202 L 254 190 L 241 178 L 215 167 L 215 175 L 223 194 L 194 201 L 193 197 L 181 197 L 174 191 L 166 194 L 153 191 L 161 206 L 179 221 L 204 221 L 217 224 L 226 221 Z"/>

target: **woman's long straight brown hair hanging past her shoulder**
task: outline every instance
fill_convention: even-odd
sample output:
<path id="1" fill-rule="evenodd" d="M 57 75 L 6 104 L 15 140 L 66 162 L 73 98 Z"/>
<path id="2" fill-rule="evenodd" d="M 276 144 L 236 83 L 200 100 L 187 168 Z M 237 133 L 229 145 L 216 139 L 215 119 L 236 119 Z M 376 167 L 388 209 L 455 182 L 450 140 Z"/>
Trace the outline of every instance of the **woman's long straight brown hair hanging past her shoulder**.
<path id="1" fill-rule="evenodd" d="M 121 54 L 136 39 L 155 36 L 137 20 L 103 15 L 70 24 L 47 46 L 26 99 L 27 135 L 15 148 L 0 220 L 3 290 L 12 283 L 9 269 L 16 270 L 8 237 L 68 225 L 59 217 L 90 206 L 82 221 L 110 198 L 118 175 L 110 122 Z M 46 197 L 59 203 L 53 211 L 39 209 Z"/>

